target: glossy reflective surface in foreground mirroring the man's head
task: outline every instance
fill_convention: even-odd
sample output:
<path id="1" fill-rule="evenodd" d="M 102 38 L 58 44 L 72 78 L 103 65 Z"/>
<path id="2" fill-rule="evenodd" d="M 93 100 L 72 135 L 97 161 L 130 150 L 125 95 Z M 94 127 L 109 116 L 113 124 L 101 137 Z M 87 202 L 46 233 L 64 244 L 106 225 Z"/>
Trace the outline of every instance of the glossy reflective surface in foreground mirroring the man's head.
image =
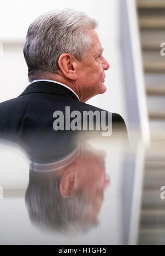
<path id="1" fill-rule="evenodd" d="M 163 148 L 95 137 L 35 163 L 1 143 L 0 243 L 164 244 Z"/>

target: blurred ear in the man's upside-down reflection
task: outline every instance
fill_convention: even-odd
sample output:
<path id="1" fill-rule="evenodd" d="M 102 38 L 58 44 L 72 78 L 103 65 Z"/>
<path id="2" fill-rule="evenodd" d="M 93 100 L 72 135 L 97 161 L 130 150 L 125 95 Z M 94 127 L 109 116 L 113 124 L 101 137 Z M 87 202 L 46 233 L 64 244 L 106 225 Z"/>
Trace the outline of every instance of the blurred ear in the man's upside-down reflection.
<path id="1" fill-rule="evenodd" d="M 62 174 L 59 191 L 63 198 L 70 198 L 78 188 L 78 180 L 75 171 L 66 171 Z"/>

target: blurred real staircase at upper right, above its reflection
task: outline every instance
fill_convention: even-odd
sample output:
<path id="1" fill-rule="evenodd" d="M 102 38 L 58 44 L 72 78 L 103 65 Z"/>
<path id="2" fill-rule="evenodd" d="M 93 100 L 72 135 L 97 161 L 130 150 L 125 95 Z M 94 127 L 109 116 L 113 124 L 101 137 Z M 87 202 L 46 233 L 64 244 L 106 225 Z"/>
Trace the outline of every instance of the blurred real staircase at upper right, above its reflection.
<path id="1" fill-rule="evenodd" d="M 151 140 L 165 140 L 165 1 L 137 0 Z M 165 52 L 165 51 L 164 51 Z"/>

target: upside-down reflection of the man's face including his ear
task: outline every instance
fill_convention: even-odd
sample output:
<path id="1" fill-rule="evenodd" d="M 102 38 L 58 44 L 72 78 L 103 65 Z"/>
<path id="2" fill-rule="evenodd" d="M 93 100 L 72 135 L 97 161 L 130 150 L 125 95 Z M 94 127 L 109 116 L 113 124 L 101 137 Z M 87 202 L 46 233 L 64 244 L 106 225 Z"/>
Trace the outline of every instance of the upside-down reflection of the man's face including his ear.
<path id="1" fill-rule="evenodd" d="M 75 163 L 68 166 L 61 176 L 59 189 L 63 198 L 74 198 L 78 191 L 83 191 L 84 200 L 92 206 L 85 215 L 89 221 L 97 221 L 104 190 L 109 185 L 105 158 L 105 151 L 96 148 L 81 150 Z"/>

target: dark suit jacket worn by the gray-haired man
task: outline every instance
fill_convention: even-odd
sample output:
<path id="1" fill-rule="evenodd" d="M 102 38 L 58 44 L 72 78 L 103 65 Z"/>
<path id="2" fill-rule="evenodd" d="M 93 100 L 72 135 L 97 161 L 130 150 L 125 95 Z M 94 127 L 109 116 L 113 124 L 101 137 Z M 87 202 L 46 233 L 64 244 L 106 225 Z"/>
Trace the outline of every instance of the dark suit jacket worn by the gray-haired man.
<path id="1" fill-rule="evenodd" d="M 102 111 L 95 106 L 82 103 L 75 94 L 52 82 L 35 82 L 27 86 L 18 98 L 7 100 L 0 104 L 0 138 L 18 143 L 32 161 L 40 162 L 61 159 L 75 147 L 75 131 L 54 131 L 53 113 L 56 110 L 65 112 L 65 106 L 70 106 L 70 112 Z M 107 112 L 106 112 L 107 113 Z M 123 118 L 112 115 L 113 132 L 118 126 L 127 134 Z M 74 138 L 74 139 L 73 139 Z M 56 152 L 56 153 L 54 153 Z"/>

